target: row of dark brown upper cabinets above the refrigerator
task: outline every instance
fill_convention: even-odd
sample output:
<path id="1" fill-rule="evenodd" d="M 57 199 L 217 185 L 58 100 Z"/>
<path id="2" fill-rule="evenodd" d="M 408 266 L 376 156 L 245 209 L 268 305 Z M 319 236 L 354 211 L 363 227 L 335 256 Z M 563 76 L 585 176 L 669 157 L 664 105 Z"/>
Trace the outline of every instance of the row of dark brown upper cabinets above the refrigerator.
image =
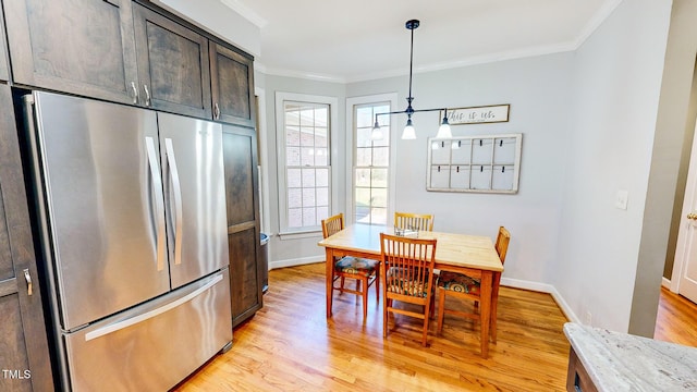
<path id="1" fill-rule="evenodd" d="M 149 2 L 3 4 L 17 85 L 255 124 L 254 59 Z M 0 79 L 9 79 L 9 71 L 3 61 Z"/>

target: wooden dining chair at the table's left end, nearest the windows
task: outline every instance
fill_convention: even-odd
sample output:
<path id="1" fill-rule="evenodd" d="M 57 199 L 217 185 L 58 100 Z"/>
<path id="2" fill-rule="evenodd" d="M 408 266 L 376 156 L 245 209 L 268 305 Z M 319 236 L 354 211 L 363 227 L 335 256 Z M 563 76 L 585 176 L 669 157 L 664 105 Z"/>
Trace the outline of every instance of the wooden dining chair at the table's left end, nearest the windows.
<path id="1" fill-rule="evenodd" d="M 321 221 L 322 236 L 327 238 L 344 229 L 344 215 L 338 213 Z M 340 293 L 351 293 L 363 297 L 363 322 L 368 316 L 368 287 L 375 284 L 376 301 L 380 302 L 380 269 L 378 260 L 364 259 L 353 256 L 344 256 L 334 260 L 332 268 L 332 293 L 334 290 Z M 356 281 L 356 290 L 345 286 L 345 279 Z M 339 280 L 339 285 L 335 285 Z M 330 294 L 332 295 L 332 294 Z"/>

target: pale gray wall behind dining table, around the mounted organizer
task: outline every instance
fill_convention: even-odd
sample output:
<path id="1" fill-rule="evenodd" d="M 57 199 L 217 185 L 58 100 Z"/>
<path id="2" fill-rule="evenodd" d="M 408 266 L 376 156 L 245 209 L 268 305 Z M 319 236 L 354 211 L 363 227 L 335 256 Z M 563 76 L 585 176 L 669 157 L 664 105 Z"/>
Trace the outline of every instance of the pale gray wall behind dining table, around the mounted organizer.
<path id="1" fill-rule="evenodd" d="M 433 213 L 435 230 L 489 235 L 512 233 L 506 279 L 550 282 L 557 253 L 563 160 L 573 53 L 560 53 L 414 75 L 414 109 L 511 103 L 508 123 L 453 125 L 453 136 L 523 134 L 519 191 L 515 195 L 426 191 L 427 138 L 436 136 L 438 112 L 414 114 L 417 138 L 399 139 L 395 210 Z M 408 79 L 350 84 L 346 95 L 398 91 L 406 108 Z M 398 130 L 405 115 L 393 115 Z M 538 287 L 539 289 L 539 287 Z"/>

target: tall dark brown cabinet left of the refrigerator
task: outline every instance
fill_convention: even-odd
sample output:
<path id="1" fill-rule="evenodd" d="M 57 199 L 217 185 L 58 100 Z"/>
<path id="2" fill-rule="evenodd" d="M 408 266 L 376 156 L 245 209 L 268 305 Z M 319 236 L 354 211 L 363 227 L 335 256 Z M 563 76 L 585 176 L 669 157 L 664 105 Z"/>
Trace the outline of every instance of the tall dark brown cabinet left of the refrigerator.
<path id="1" fill-rule="evenodd" d="M 0 84 L 0 108 L 12 108 Z M 0 391 L 52 391 L 22 162 L 12 110 L 0 111 Z"/>

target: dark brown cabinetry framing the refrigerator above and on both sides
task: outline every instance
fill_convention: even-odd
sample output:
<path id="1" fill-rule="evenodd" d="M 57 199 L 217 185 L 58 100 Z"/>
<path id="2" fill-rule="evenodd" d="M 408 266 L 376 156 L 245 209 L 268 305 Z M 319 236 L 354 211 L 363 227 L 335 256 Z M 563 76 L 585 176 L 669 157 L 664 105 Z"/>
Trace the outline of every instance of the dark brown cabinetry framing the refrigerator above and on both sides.
<path id="1" fill-rule="evenodd" d="M 233 324 L 253 316 L 262 299 L 254 59 L 146 0 L 1 1 L 0 346 L 8 350 L 0 351 L 0 365 L 30 370 L 30 382 L 0 375 L 0 390 L 53 390 L 12 109 L 15 89 L 223 123 Z"/>

